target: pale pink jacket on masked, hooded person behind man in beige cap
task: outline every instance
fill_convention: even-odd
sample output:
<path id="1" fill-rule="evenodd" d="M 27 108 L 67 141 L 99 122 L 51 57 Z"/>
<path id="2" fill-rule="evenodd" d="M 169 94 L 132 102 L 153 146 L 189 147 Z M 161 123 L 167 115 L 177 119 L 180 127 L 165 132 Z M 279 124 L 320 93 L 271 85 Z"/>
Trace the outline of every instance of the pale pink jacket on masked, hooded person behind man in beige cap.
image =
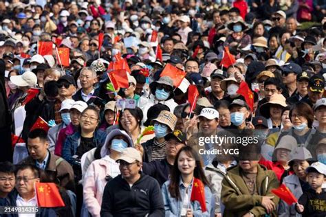
<path id="1" fill-rule="evenodd" d="M 83 195 L 85 207 L 91 216 L 100 217 L 102 196 L 107 181 L 106 176 L 114 178 L 120 174 L 119 165 L 109 157 L 91 162 L 85 173 L 83 183 Z"/>

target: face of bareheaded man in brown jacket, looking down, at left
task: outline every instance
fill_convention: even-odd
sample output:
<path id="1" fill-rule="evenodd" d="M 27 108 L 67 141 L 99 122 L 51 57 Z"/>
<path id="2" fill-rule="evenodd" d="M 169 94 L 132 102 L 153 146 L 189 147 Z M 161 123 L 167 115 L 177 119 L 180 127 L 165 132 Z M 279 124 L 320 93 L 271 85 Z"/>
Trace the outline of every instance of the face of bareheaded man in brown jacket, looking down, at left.
<path id="1" fill-rule="evenodd" d="M 49 148 L 47 141 L 39 137 L 35 139 L 28 138 L 28 152 L 30 152 L 32 159 L 43 161 L 47 155 L 47 148 Z"/>

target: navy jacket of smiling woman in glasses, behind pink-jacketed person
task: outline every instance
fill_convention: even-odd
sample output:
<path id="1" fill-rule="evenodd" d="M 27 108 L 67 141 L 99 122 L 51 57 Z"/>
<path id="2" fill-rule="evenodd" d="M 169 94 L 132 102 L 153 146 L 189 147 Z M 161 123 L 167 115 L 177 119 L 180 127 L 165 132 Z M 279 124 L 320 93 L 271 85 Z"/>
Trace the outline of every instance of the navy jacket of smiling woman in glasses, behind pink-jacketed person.
<path id="1" fill-rule="evenodd" d="M 105 137 L 107 133 L 102 130 L 96 130 L 94 132 L 94 144 L 96 147 L 102 146 L 105 142 Z M 73 156 L 76 154 L 77 148 L 80 144 L 80 132 L 76 132 L 73 135 L 69 135 L 65 139 L 65 144 L 63 144 L 62 157 L 71 165 L 76 164 L 76 159 Z"/>

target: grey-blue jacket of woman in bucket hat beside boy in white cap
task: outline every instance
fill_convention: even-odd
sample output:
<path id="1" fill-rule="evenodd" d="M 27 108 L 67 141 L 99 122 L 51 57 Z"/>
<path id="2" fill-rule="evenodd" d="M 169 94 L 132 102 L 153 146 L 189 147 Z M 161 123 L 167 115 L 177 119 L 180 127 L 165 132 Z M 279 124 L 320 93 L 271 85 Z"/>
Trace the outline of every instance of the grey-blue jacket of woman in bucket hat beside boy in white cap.
<path id="1" fill-rule="evenodd" d="M 300 181 L 296 174 L 286 176 L 283 179 L 283 183 L 290 189 L 292 194 L 298 199 L 303 194 Z M 279 202 L 279 217 L 301 217 L 301 214 L 296 212 L 295 204 L 292 206 L 287 205 L 283 200 Z"/>

